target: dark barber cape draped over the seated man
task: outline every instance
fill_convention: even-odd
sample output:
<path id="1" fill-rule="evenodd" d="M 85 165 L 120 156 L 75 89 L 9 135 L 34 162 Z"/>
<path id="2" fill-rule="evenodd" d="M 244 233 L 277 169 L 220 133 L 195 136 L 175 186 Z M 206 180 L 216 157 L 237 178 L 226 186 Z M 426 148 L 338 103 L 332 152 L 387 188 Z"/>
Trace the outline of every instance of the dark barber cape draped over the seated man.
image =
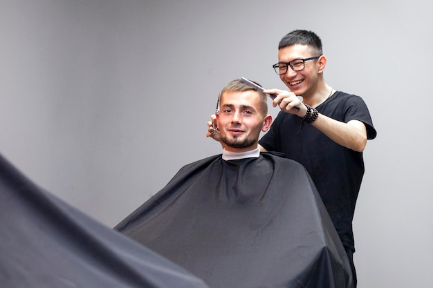
<path id="1" fill-rule="evenodd" d="M 304 166 L 270 153 L 188 164 L 115 229 L 212 288 L 352 287 Z"/>

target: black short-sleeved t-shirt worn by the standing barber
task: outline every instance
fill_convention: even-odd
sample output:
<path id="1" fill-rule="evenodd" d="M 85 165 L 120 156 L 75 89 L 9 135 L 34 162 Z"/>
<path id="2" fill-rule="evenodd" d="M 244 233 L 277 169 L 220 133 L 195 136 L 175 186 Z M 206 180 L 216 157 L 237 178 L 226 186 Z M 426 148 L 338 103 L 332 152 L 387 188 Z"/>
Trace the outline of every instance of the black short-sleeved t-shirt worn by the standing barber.
<path id="1" fill-rule="evenodd" d="M 367 138 L 376 137 L 368 108 L 359 96 L 338 91 L 316 108 L 341 122 L 360 120 L 367 127 Z M 342 243 L 354 250 L 351 222 L 364 175 L 362 153 L 336 144 L 311 124 L 303 123 L 302 118 L 284 112 L 279 113 L 259 144 L 305 166 Z"/>

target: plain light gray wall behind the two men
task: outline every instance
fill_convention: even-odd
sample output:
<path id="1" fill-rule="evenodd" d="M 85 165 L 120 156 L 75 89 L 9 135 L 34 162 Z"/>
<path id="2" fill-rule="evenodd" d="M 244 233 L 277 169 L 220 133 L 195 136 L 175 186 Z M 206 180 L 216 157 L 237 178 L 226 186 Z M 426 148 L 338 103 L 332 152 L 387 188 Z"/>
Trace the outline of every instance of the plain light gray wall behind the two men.
<path id="1" fill-rule="evenodd" d="M 0 153 L 113 227 L 181 166 L 220 153 L 205 131 L 221 87 L 248 77 L 285 88 L 277 43 L 311 29 L 326 81 L 361 95 L 378 130 L 354 220 L 359 287 L 432 287 L 432 8 L 0 0 Z"/>

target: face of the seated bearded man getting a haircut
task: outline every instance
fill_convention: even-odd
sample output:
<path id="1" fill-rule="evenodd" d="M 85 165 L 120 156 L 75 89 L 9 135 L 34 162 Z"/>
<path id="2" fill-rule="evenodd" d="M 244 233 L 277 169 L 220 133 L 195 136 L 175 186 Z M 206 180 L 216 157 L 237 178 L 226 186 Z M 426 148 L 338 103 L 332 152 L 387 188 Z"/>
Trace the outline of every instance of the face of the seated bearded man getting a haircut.
<path id="1" fill-rule="evenodd" d="M 260 95 L 255 90 L 226 91 L 221 95 L 216 115 L 225 150 L 245 152 L 257 148 L 260 131 L 268 130 L 270 116 L 260 111 Z"/>

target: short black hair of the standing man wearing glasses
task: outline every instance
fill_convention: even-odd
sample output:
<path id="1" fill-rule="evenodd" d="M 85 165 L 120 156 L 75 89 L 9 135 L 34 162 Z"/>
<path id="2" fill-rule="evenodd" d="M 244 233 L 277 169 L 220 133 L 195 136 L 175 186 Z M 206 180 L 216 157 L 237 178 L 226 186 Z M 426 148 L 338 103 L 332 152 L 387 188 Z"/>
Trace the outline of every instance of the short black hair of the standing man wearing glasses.
<path id="1" fill-rule="evenodd" d="M 315 56 L 323 55 L 322 40 L 315 32 L 308 30 L 293 30 L 288 33 L 279 41 L 278 50 L 296 44 L 309 46 Z"/>

